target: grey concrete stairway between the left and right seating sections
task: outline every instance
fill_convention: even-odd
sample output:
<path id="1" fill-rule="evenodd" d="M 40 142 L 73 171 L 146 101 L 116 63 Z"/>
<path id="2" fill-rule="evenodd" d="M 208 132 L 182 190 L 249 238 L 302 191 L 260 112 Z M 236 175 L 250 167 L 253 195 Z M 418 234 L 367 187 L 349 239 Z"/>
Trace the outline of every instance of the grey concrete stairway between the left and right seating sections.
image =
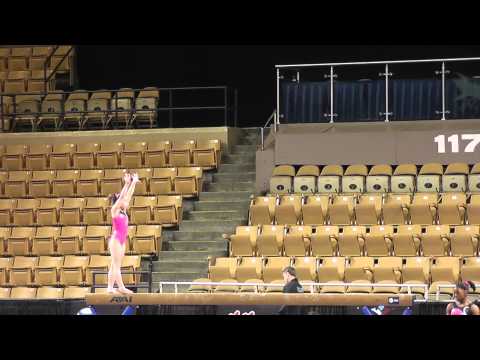
<path id="1" fill-rule="evenodd" d="M 250 195 L 255 193 L 255 152 L 258 128 L 244 129 L 232 153 L 224 154 L 217 172 L 204 176 L 198 200 L 184 201 L 179 229 L 163 231 L 163 246 L 153 262 L 153 291 L 159 281 L 193 281 L 207 277 L 208 257 L 228 256 L 224 233 L 247 224 Z M 146 267 L 146 263 L 144 263 Z M 146 268 L 145 268 L 146 270 Z M 179 286 L 186 291 L 188 285 Z M 173 286 L 163 291 L 173 291 Z"/>

